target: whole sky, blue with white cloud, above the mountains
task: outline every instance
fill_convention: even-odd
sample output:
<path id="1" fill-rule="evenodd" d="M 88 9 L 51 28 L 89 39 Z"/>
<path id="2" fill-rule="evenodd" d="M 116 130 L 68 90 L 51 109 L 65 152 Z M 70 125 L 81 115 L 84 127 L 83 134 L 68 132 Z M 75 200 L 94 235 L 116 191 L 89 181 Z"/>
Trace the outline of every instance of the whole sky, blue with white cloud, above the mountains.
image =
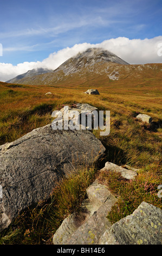
<path id="1" fill-rule="evenodd" d="M 0 0 L 0 7 L 0 81 L 56 69 L 89 47 L 130 64 L 162 63 L 161 0 Z"/>

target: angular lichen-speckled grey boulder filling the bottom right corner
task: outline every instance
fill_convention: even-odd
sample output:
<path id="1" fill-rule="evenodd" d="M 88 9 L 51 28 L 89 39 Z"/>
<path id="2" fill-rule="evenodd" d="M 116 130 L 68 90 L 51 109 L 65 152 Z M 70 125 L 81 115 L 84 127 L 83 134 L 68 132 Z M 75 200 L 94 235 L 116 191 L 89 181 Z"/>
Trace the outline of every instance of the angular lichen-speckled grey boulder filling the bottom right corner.
<path id="1" fill-rule="evenodd" d="M 162 210 L 142 202 L 101 236 L 100 245 L 161 245 Z"/>

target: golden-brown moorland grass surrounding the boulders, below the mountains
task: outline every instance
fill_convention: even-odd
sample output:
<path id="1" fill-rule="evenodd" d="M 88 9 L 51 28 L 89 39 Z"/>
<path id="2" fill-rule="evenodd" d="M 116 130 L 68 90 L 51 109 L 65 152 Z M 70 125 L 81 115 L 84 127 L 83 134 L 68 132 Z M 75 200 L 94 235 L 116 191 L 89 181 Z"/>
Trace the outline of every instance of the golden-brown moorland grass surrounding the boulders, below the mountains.
<path id="1" fill-rule="evenodd" d="M 159 84 L 124 87 L 109 81 L 105 86 L 95 87 L 100 95 L 82 94 L 88 88 L 44 87 L 0 84 L 0 143 L 14 141 L 25 133 L 52 121 L 51 112 L 63 105 L 89 103 L 100 110 L 111 111 L 111 133 L 100 136 L 93 131 L 106 147 L 105 160 L 119 165 L 128 164 L 138 168 L 133 181 L 122 179 L 119 174 L 100 172 L 95 167 L 76 170 L 54 190 L 48 202 L 40 202 L 27 209 L 0 235 L 2 244 L 50 243 L 61 222 L 71 212 L 77 211 L 86 195 L 86 188 L 98 178 L 108 186 L 118 203 L 108 218 L 112 223 L 125 217 L 142 201 L 161 208 L 157 196 L 161 179 L 161 91 Z M 47 92 L 53 93 L 46 96 Z M 153 130 L 135 117 L 138 113 L 151 115 L 159 126 Z"/>

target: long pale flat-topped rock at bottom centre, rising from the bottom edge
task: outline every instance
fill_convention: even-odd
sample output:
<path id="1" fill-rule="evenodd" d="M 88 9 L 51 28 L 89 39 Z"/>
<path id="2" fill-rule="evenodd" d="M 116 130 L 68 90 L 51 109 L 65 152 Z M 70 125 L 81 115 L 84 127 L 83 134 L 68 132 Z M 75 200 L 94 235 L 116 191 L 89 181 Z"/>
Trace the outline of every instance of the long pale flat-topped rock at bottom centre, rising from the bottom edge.
<path id="1" fill-rule="evenodd" d="M 111 226 L 106 217 L 117 199 L 98 181 L 87 190 L 87 199 L 79 214 L 69 215 L 53 236 L 54 245 L 92 245 L 98 244 L 105 230 Z"/>

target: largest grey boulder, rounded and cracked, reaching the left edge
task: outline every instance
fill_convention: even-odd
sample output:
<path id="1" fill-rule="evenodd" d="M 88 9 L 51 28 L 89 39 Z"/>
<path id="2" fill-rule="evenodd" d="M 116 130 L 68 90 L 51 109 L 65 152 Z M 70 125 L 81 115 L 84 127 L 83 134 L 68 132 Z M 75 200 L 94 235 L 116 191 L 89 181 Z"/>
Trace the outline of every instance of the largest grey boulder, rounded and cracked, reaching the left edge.
<path id="1" fill-rule="evenodd" d="M 105 148 L 87 130 L 35 129 L 0 147 L 0 231 L 19 212 L 50 196 L 56 181 L 78 164 L 90 165 Z"/>

